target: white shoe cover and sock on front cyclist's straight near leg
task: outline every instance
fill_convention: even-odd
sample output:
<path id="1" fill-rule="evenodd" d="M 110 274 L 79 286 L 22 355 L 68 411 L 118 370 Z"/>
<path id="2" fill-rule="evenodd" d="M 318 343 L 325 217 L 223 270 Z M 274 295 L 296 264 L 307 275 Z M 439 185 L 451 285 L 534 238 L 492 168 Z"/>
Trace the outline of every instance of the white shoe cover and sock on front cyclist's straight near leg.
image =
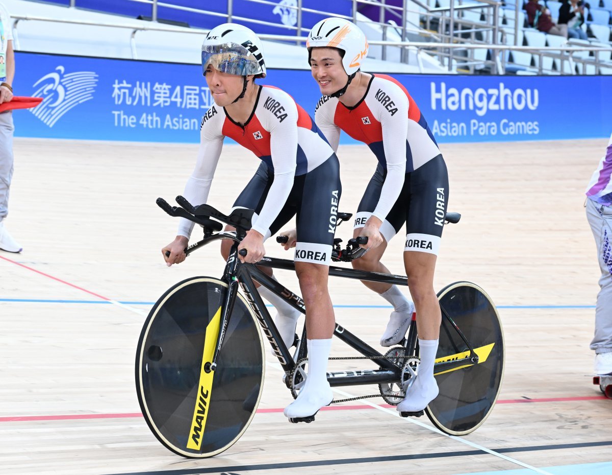
<path id="1" fill-rule="evenodd" d="M 297 399 L 285 408 L 286 417 L 314 416 L 334 399 L 327 382 L 327 359 L 332 348 L 332 339 L 306 340 L 308 346 L 308 376 Z"/>

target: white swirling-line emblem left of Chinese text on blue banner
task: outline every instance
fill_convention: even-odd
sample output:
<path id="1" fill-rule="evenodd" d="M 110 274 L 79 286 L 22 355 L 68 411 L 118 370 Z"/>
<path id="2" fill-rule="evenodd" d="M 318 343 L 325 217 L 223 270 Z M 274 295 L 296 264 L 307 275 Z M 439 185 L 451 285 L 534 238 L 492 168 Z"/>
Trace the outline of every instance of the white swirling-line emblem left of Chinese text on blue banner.
<path id="1" fill-rule="evenodd" d="M 30 111 L 49 127 L 73 107 L 93 99 L 98 82 L 98 75 L 92 71 L 64 74 L 64 66 L 55 70 L 34 83 L 34 88 L 40 88 L 32 96 L 43 97 L 43 101 Z"/>

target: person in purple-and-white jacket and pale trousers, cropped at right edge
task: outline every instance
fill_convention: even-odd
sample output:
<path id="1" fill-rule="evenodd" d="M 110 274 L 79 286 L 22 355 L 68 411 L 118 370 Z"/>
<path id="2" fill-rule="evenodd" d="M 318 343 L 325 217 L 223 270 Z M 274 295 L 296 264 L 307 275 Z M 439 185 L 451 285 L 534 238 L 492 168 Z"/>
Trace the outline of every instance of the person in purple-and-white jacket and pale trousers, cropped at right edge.
<path id="1" fill-rule="evenodd" d="M 586 189 L 586 217 L 591 225 L 599 268 L 601 287 L 595 308 L 594 373 L 612 374 L 612 135 L 605 156 L 593 173 Z"/>

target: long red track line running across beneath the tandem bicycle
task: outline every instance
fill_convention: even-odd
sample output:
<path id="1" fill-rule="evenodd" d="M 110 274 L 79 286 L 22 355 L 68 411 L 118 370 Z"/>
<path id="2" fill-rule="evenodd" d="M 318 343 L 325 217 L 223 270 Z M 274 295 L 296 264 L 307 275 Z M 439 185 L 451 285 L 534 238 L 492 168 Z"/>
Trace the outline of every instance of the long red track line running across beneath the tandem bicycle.
<path id="1" fill-rule="evenodd" d="M 551 402 L 571 402 L 571 401 L 599 401 L 607 399 L 605 396 L 583 396 L 569 398 L 539 398 L 539 399 L 507 399 L 498 400 L 497 404 L 517 404 L 517 403 L 551 403 Z M 394 406 L 381 404 L 383 408 L 392 408 Z M 368 405 L 353 405 L 353 406 L 328 406 L 321 408 L 321 411 L 355 411 L 359 409 L 373 409 Z M 270 412 L 283 412 L 283 408 L 258 409 L 258 414 L 268 414 Z M 67 414 L 58 416 L 9 416 L 0 417 L 0 422 L 23 422 L 32 420 L 80 420 L 80 419 L 121 419 L 129 417 L 142 417 L 140 412 L 132 412 L 127 414 Z"/>

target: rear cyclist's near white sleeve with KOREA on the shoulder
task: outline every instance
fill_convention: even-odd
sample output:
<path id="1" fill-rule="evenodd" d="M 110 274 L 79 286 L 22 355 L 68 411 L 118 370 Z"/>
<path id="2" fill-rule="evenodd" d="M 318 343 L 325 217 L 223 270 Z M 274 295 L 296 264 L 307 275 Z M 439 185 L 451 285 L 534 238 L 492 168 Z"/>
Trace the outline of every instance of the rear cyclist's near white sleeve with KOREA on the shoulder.
<path id="1" fill-rule="evenodd" d="M 391 87 L 393 86 L 393 87 Z M 386 86 L 387 93 L 395 102 L 397 111 L 391 113 L 376 101 L 376 118 L 383 127 L 383 148 L 387 161 L 387 177 L 384 180 L 378 205 L 372 213 L 384 221 L 400 196 L 406 176 L 406 136 L 408 135 L 408 97 L 395 85 Z M 374 111 L 373 111 L 374 112 Z"/>

